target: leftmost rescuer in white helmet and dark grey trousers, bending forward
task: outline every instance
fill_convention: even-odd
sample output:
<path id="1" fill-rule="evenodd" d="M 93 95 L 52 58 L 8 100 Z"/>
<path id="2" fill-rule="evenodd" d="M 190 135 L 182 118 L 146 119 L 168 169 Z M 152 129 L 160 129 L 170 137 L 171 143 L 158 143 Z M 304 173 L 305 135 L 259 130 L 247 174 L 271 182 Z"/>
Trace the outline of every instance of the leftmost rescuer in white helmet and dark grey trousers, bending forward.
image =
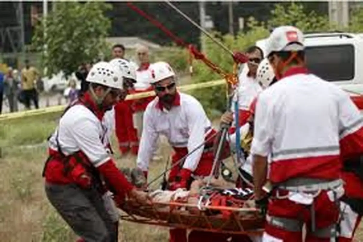
<path id="1" fill-rule="evenodd" d="M 105 147 L 104 113 L 118 98 L 126 97 L 119 70 L 110 63 L 98 62 L 86 80 L 89 90 L 66 108 L 49 138 L 49 157 L 43 171 L 45 192 L 82 238 L 78 241 L 117 241 L 117 223 L 109 213 L 115 207 L 107 190 L 118 200 L 129 196 L 144 204 L 147 197 L 119 172 Z"/>

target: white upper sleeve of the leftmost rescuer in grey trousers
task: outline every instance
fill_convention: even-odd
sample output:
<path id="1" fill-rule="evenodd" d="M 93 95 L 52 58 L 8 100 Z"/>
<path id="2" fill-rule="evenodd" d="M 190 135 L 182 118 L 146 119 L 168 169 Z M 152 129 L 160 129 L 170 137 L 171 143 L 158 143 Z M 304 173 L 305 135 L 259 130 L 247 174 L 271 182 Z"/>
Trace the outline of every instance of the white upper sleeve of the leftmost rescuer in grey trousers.
<path id="1" fill-rule="evenodd" d="M 95 120 L 82 119 L 73 124 L 71 131 L 79 149 L 85 153 L 95 167 L 99 167 L 111 158 L 102 144 L 98 129 L 99 123 L 96 123 Z"/>

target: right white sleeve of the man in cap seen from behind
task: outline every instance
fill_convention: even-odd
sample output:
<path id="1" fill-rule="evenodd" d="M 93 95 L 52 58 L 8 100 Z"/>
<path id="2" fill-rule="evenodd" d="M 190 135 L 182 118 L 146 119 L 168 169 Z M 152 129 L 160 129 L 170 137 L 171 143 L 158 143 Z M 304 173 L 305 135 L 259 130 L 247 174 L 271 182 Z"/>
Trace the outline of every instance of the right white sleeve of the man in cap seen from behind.
<path id="1" fill-rule="evenodd" d="M 340 90 L 339 90 L 340 91 Z M 362 127 L 363 117 L 349 95 L 340 92 L 339 98 L 339 134 L 340 139 L 353 134 Z"/>

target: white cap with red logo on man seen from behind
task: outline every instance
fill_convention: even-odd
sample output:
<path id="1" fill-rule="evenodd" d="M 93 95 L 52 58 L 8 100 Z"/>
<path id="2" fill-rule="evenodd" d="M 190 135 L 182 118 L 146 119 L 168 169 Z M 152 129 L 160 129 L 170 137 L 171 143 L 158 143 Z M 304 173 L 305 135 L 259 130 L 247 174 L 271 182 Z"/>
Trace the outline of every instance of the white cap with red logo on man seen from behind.
<path id="1" fill-rule="evenodd" d="M 300 51 L 305 48 L 304 35 L 294 26 L 280 26 L 273 30 L 266 47 L 266 56 L 272 52 Z"/>

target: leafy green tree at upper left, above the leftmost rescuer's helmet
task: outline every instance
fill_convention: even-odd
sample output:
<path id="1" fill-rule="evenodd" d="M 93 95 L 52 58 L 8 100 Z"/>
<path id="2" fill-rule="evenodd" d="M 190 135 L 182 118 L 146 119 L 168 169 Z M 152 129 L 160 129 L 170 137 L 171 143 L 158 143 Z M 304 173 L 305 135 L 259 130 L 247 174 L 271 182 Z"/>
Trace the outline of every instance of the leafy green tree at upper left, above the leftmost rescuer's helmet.
<path id="1" fill-rule="evenodd" d="M 105 37 L 111 23 L 104 14 L 109 9 L 111 5 L 102 2 L 58 2 L 56 10 L 40 21 L 32 46 L 42 53 L 42 67 L 47 69 L 48 76 L 59 71 L 69 75 L 81 63 L 106 53 L 109 46 Z M 47 46 L 46 54 L 44 45 Z"/>

